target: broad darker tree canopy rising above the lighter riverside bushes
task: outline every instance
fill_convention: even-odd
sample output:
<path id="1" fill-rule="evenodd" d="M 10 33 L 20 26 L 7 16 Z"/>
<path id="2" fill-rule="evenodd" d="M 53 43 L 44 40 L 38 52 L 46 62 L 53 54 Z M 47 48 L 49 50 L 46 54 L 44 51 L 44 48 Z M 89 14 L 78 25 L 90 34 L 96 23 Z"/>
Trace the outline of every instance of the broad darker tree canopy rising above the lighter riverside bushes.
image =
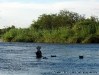
<path id="1" fill-rule="evenodd" d="M 59 14 L 43 14 L 38 17 L 37 21 L 33 21 L 30 28 L 53 29 L 60 27 L 72 27 L 76 22 L 84 20 L 85 17 L 75 12 L 61 10 Z"/>

